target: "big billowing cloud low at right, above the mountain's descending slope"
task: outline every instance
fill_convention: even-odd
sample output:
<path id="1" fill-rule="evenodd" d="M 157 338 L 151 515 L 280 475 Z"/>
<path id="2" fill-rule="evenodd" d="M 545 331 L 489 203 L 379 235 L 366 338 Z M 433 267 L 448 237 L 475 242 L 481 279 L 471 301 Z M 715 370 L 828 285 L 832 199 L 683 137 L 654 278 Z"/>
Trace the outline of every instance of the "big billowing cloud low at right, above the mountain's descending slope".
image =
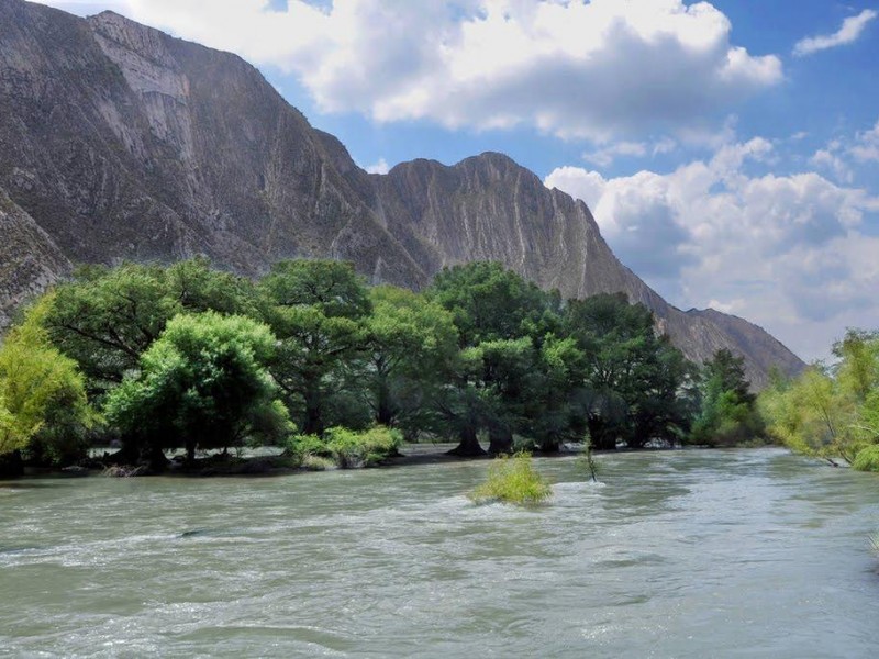
<path id="1" fill-rule="evenodd" d="M 866 222 L 879 198 L 812 171 L 748 174 L 775 157 L 758 137 L 670 174 L 564 167 L 545 183 L 583 199 L 621 260 L 679 305 L 733 311 L 811 358 L 846 324 L 879 324 Z"/>

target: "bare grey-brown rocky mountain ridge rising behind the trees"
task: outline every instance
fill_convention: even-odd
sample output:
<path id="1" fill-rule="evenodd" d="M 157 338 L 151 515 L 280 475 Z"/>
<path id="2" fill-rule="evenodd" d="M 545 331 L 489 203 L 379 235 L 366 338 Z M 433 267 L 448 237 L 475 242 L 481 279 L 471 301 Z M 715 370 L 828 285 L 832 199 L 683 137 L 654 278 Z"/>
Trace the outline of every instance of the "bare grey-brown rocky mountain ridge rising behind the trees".
<path id="1" fill-rule="evenodd" d="M 690 358 L 744 355 L 756 384 L 802 367 L 744 320 L 666 303 L 586 204 L 510 158 L 368 175 L 241 58 L 111 12 L 0 0 L 0 323 L 71 263 L 205 254 L 254 275 L 329 256 L 418 289 L 491 259 L 567 297 L 625 292 Z"/>

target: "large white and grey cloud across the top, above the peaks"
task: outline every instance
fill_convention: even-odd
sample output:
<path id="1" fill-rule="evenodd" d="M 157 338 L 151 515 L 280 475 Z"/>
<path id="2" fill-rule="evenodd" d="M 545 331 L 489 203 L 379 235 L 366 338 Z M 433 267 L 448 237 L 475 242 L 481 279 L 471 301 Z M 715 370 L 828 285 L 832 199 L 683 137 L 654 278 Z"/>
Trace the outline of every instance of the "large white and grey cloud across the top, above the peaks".
<path id="1" fill-rule="evenodd" d="M 782 79 L 780 59 L 733 44 L 708 2 L 124 0 L 123 11 L 296 74 L 322 111 L 383 122 L 602 142 L 692 129 Z"/>

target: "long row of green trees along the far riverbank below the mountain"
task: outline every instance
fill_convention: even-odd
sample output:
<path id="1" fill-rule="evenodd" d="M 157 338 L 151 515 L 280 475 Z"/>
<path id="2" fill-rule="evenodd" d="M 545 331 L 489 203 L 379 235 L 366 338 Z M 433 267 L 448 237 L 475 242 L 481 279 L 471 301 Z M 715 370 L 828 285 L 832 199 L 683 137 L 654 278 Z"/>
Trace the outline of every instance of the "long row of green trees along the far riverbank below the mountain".
<path id="1" fill-rule="evenodd" d="M 755 401 L 741 358 L 697 368 L 643 305 L 563 300 L 498 264 L 447 268 L 420 293 L 332 260 L 255 281 L 201 258 L 88 266 L 3 339 L 0 461 L 67 465 L 115 440 L 118 460 L 160 466 L 169 449 L 377 427 L 460 456 L 733 445 L 763 435 Z"/>

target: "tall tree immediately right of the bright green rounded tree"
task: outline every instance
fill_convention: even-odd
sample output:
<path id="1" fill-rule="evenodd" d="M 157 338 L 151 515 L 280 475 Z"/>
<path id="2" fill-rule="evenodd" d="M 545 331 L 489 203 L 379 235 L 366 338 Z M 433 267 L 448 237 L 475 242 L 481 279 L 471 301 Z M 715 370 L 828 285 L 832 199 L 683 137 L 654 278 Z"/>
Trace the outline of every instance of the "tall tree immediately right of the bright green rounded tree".
<path id="1" fill-rule="evenodd" d="M 271 375 L 302 432 L 320 435 L 329 403 L 367 343 L 366 286 L 352 264 L 300 260 L 276 264 L 258 288 L 263 319 L 279 339 Z"/>

